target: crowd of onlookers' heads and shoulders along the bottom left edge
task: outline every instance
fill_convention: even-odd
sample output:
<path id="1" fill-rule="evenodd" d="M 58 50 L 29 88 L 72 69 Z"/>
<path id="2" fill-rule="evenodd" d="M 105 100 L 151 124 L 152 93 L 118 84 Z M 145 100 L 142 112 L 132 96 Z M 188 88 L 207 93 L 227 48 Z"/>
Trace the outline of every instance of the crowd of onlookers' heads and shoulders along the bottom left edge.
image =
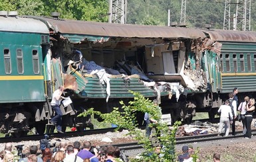
<path id="1" fill-rule="evenodd" d="M 43 149 L 42 149 L 43 148 Z M 0 152 L 0 161 L 3 162 L 116 162 L 120 159 L 120 149 L 113 145 L 92 147 L 90 142 L 74 142 L 72 145 L 61 142 L 58 149 L 29 147 L 29 153 L 19 156 L 13 153 L 12 143 L 6 143 L 5 149 Z"/>

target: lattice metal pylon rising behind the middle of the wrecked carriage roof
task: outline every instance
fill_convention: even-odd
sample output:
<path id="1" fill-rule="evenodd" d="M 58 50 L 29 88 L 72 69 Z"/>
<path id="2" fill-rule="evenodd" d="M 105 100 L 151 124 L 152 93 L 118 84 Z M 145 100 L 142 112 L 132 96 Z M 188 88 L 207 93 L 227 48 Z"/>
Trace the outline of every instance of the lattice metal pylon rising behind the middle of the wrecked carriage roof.
<path id="1" fill-rule="evenodd" d="M 109 23 L 126 24 L 127 0 L 109 0 Z"/>

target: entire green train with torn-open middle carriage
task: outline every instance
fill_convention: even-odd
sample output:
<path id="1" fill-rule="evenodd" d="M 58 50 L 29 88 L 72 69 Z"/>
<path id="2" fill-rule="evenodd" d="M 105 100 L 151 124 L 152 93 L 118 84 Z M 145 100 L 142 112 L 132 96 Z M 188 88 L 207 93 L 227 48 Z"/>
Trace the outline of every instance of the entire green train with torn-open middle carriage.
<path id="1" fill-rule="evenodd" d="M 255 97 L 256 32 L 108 24 L 0 12 L 0 132 L 45 132 L 51 95 L 60 85 L 72 104 L 61 106 L 63 128 L 84 130 L 76 114 L 110 112 L 136 91 L 158 99 L 172 121 L 190 122 L 239 88 Z M 142 122 L 143 114 L 138 114 Z"/>

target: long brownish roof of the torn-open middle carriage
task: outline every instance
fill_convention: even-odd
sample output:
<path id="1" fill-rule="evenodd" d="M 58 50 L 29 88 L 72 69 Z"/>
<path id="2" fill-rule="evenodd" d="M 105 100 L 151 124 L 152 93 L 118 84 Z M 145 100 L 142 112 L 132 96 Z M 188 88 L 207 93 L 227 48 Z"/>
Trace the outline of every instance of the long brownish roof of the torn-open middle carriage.
<path id="1" fill-rule="evenodd" d="M 168 26 L 147 26 L 136 24 L 112 24 L 81 20 L 57 20 L 33 17 L 49 24 L 61 34 L 82 34 L 86 36 L 123 37 L 123 38 L 204 38 L 201 30 Z"/>

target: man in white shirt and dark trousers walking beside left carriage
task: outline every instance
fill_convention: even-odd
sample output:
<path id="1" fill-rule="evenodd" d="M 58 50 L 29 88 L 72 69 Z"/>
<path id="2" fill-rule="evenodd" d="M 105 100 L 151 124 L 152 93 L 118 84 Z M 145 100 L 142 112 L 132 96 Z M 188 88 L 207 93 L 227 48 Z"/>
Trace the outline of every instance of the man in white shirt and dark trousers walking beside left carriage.
<path id="1" fill-rule="evenodd" d="M 50 122 L 51 124 L 54 124 L 54 125 L 57 124 L 57 132 L 60 134 L 64 133 L 61 130 L 63 113 L 61 112 L 61 108 L 60 108 L 61 101 L 65 99 L 63 96 L 61 96 L 63 95 L 63 91 L 64 91 L 64 87 L 60 86 L 59 89 L 53 92 L 53 99 L 51 101 L 51 106 L 55 111 L 55 116 L 50 120 Z"/>

